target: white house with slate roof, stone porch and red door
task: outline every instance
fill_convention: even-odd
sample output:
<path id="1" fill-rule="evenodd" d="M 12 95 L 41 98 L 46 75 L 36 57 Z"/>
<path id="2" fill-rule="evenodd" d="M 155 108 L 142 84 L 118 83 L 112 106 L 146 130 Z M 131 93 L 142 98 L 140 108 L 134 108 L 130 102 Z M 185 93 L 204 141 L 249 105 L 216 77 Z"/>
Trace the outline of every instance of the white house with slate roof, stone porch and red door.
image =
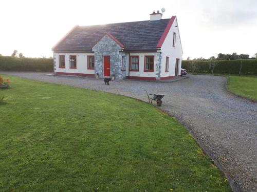
<path id="1" fill-rule="evenodd" d="M 180 76 L 182 47 L 176 16 L 75 26 L 53 48 L 54 74 L 163 80 Z"/>

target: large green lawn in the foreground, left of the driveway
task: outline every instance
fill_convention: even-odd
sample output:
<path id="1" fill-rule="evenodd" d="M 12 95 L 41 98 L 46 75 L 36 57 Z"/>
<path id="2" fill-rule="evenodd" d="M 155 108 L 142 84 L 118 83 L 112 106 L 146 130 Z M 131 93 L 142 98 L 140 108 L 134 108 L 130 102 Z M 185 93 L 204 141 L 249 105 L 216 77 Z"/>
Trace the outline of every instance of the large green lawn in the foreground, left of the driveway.
<path id="1" fill-rule="evenodd" d="M 8 78 L 0 191 L 231 191 L 188 131 L 155 106 Z"/>

